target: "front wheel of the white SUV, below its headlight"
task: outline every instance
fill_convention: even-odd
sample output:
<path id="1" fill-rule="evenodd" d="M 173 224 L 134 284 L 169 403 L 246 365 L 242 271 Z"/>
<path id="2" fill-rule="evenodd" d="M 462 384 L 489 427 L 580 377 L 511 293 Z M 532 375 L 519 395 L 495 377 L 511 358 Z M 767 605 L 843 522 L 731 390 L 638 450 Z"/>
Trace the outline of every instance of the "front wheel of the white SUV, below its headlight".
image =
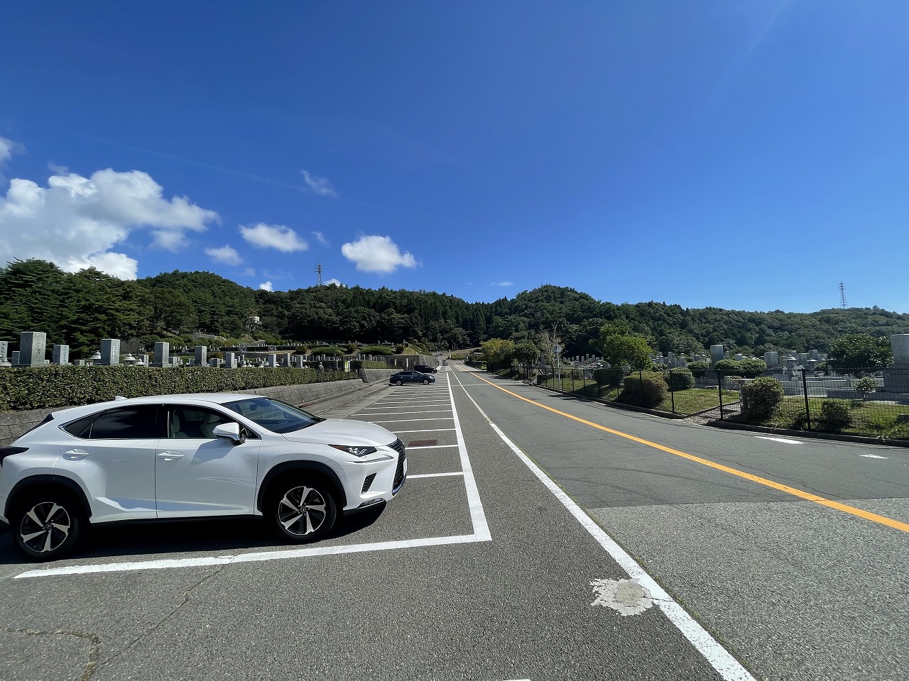
<path id="1" fill-rule="evenodd" d="M 318 541 L 335 527 L 335 490 L 318 476 L 277 480 L 265 499 L 265 517 L 285 541 Z"/>

